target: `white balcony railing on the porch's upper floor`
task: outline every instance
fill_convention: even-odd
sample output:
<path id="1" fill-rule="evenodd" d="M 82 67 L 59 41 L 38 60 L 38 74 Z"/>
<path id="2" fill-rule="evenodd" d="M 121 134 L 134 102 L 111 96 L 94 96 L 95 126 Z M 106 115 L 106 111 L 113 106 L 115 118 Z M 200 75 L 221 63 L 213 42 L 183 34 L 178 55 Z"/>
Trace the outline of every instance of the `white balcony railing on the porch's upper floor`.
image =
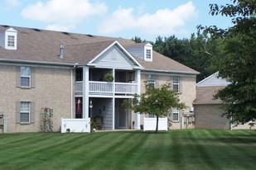
<path id="1" fill-rule="evenodd" d="M 137 92 L 137 83 L 107 83 L 89 81 L 89 94 L 94 95 L 133 95 Z M 82 94 L 83 82 L 75 82 L 75 94 Z"/>

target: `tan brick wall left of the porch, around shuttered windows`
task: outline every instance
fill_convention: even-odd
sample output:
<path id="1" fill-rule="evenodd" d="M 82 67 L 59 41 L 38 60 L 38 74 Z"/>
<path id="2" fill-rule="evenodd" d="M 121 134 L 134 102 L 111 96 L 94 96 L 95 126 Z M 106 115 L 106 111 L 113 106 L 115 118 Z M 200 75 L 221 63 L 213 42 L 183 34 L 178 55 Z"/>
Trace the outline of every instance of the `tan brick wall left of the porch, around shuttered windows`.
<path id="1" fill-rule="evenodd" d="M 0 65 L 0 111 L 7 120 L 7 133 L 40 131 L 43 107 L 53 109 L 53 131 L 60 130 L 61 117 L 70 118 L 70 69 L 34 67 L 34 70 L 35 87 L 21 88 L 16 85 L 17 66 Z M 35 103 L 35 123 L 16 123 L 16 102 Z"/>

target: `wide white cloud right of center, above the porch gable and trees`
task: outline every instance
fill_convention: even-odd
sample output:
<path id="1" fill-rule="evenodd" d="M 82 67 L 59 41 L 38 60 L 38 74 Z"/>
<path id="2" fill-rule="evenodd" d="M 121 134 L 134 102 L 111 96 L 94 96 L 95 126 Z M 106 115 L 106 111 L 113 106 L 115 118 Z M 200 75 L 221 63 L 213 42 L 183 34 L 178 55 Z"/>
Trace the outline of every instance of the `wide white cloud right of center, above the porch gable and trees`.
<path id="1" fill-rule="evenodd" d="M 160 9 L 153 14 L 147 13 L 139 17 L 133 15 L 133 8 L 119 7 L 111 17 L 101 23 L 99 31 L 112 34 L 118 31 L 139 30 L 153 35 L 171 35 L 186 32 L 183 29 L 186 22 L 196 17 L 196 7 L 192 2 L 187 2 L 174 10 Z"/>

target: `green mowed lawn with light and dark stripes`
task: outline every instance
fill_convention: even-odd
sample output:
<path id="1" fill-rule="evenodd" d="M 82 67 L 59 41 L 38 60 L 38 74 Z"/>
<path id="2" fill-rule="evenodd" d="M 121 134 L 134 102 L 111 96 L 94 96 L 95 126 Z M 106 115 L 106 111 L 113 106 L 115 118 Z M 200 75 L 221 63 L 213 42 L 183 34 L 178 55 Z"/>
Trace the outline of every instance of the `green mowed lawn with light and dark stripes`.
<path id="1" fill-rule="evenodd" d="M 256 169 L 256 131 L 0 134 L 0 169 Z"/>

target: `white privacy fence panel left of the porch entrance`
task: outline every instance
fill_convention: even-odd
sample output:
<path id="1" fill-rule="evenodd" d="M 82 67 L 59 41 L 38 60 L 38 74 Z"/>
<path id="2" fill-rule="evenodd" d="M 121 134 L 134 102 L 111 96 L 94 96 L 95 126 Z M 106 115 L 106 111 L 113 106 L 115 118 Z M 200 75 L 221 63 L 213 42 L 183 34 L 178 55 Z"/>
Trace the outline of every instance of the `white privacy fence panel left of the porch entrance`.
<path id="1" fill-rule="evenodd" d="M 61 119 L 60 132 L 90 132 L 90 119 Z"/>

